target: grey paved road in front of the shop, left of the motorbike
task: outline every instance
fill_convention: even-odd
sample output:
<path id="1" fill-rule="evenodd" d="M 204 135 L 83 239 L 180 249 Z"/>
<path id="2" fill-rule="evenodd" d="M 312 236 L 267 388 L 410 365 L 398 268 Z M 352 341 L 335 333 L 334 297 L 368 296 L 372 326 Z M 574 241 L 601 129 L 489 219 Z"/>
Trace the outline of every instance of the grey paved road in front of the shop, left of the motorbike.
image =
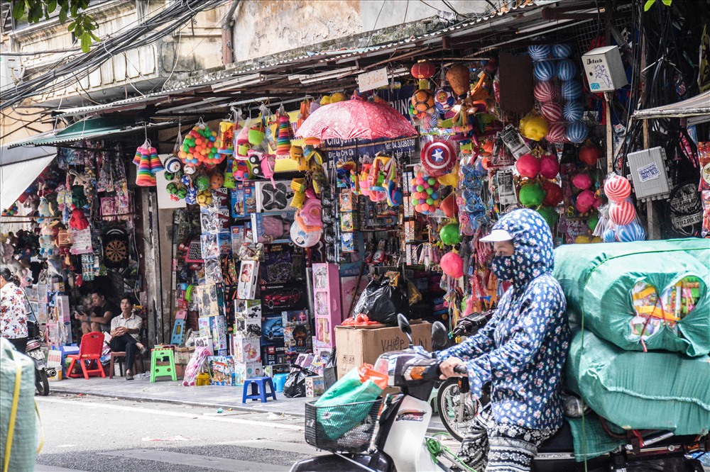
<path id="1" fill-rule="evenodd" d="M 110 398 L 37 398 L 36 471 L 288 471 L 315 454 L 302 417 Z"/>

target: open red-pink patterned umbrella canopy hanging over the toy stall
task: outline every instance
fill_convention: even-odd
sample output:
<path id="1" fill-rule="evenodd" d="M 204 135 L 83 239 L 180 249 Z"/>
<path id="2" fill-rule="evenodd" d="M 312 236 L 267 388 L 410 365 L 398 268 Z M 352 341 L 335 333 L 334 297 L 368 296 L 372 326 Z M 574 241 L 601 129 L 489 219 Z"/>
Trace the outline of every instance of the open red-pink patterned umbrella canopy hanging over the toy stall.
<path id="1" fill-rule="evenodd" d="M 376 140 L 416 134 L 407 118 L 386 103 L 346 100 L 318 108 L 298 128 L 296 137 Z"/>

